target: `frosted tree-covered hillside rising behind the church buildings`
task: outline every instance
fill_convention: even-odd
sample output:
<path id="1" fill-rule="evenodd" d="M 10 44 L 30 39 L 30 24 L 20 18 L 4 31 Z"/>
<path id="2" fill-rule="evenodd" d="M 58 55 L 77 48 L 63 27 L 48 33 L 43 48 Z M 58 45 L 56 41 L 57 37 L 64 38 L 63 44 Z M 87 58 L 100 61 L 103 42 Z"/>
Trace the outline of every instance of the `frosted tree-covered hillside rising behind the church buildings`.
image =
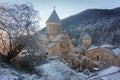
<path id="1" fill-rule="evenodd" d="M 120 8 L 87 9 L 62 19 L 62 30 L 68 33 L 75 46 L 81 43 L 84 32 L 92 37 L 92 43 L 120 46 Z M 43 29 L 43 32 L 45 29 Z"/>

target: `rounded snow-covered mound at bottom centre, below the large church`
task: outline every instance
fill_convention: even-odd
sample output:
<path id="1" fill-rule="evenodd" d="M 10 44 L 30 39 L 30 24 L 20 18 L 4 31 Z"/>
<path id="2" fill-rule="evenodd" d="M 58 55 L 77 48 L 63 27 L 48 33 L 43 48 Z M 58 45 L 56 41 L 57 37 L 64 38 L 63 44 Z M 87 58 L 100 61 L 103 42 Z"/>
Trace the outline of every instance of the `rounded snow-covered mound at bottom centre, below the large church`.
<path id="1" fill-rule="evenodd" d="M 59 61 L 52 61 L 35 69 L 42 75 L 40 80 L 82 80 L 79 74 Z"/>

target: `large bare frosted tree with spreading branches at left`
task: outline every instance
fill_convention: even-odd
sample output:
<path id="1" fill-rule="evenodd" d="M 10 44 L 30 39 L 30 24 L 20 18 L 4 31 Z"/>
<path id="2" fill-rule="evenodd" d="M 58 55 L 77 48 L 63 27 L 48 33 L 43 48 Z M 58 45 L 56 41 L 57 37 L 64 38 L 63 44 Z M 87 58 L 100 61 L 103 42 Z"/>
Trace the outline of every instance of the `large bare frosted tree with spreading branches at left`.
<path id="1" fill-rule="evenodd" d="M 0 30 L 5 32 L 5 39 L 0 34 L 1 44 L 7 59 L 15 57 L 29 42 L 27 37 L 39 26 L 37 11 L 33 6 L 22 4 L 0 7 Z M 4 54 L 4 51 L 1 54 Z"/>

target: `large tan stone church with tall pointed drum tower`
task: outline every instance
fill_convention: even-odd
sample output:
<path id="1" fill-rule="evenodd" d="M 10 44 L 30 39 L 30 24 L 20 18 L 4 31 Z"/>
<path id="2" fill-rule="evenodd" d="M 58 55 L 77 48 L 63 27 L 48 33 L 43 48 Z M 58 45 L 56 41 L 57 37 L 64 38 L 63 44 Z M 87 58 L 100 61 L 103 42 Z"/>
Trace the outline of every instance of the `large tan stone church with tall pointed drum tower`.
<path id="1" fill-rule="evenodd" d="M 75 53 L 74 45 L 69 36 L 63 34 L 61 30 L 61 20 L 54 9 L 46 22 L 46 33 L 41 34 L 39 38 L 45 45 L 45 50 L 49 56 Z"/>

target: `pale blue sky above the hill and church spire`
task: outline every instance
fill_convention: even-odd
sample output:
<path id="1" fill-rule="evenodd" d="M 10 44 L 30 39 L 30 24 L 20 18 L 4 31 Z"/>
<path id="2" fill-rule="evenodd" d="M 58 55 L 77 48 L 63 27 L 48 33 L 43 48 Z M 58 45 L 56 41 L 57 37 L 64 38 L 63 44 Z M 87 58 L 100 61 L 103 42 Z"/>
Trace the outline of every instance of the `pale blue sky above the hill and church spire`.
<path id="1" fill-rule="evenodd" d="M 60 19 L 90 8 L 111 9 L 120 7 L 120 0 L 0 0 L 0 3 L 32 3 L 42 18 L 41 27 L 45 26 L 46 20 L 53 11 L 53 6 L 56 6 Z"/>

